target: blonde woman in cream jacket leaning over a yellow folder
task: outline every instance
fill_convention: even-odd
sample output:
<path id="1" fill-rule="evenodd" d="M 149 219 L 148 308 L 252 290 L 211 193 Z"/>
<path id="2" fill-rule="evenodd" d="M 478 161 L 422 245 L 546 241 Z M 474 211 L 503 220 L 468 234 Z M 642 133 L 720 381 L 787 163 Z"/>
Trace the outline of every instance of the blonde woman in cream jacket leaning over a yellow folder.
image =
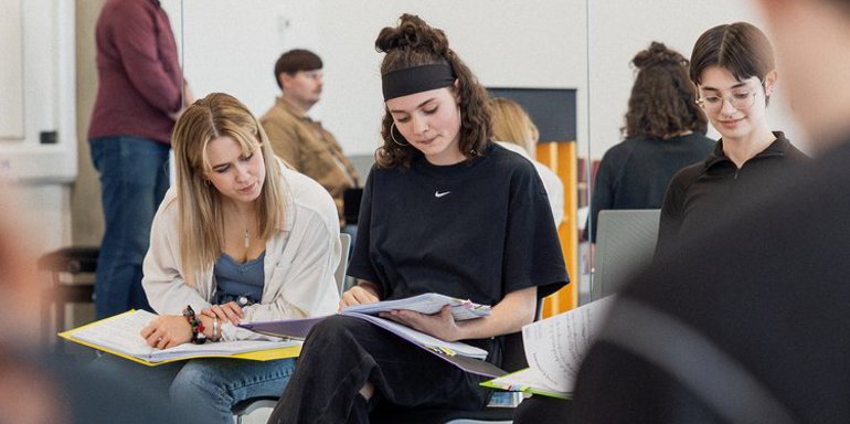
<path id="1" fill-rule="evenodd" d="M 333 200 L 275 158 L 237 99 L 211 94 L 173 134 L 177 186 L 153 219 L 142 286 L 159 317 L 141 330 L 158 349 L 263 338 L 241 322 L 333 314 L 340 261 Z M 233 423 L 245 399 L 279 395 L 291 358 L 193 359 L 153 369 L 110 358 L 97 368 L 163 394 L 180 418 Z M 193 422 L 193 421 L 192 421 Z"/>

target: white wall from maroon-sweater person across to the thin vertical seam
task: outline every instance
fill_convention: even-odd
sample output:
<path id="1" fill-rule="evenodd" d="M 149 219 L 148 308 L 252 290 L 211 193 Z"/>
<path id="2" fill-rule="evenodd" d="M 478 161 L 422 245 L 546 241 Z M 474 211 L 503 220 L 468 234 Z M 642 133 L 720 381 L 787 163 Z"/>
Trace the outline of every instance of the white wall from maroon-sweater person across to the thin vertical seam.
<path id="1" fill-rule="evenodd" d="M 182 9 L 178 0 L 163 6 L 183 38 L 185 76 L 196 96 L 227 92 L 263 114 L 279 94 L 273 67 L 280 53 L 315 50 L 325 62 L 325 94 L 310 115 L 350 155 L 370 155 L 378 147 L 382 54 L 374 40 L 404 12 L 444 29 L 485 85 L 585 92 L 584 0 L 541 1 L 533 8 L 486 0 L 251 0 L 238 3 L 238 13 L 233 0 L 182 3 Z"/>

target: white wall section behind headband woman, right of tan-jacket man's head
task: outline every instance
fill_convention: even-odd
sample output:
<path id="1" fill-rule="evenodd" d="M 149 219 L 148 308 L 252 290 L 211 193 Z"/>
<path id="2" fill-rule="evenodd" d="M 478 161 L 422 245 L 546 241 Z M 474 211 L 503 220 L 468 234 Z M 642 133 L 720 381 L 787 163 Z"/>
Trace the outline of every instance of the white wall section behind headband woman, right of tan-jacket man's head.
<path id="1" fill-rule="evenodd" d="M 487 0 L 321 3 L 320 44 L 328 62 L 323 118 L 353 153 L 371 153 L 379 146 L 383 54 L 375 52 L 374 40 L 404 12 L 443 29 L 486 86 L 578 88 L 583 98 L 583 0 L 539 1 L 534 7 Z"/>

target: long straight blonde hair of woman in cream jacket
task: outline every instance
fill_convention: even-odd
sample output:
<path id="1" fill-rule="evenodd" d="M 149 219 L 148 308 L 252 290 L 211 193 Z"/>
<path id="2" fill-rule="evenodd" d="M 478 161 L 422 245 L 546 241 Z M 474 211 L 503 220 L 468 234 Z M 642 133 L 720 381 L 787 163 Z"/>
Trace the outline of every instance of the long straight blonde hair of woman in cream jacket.
<path id="1" fill-rule="evenodd" d="M 268 239 L 284 223 L 280 165 L 256 117 L 242 102 L 223 93 L 210 94 L 189 106 L 174 125 L 171 139 L 180 211 L 180 259 L 190 286 L 198 283 L 202 269 L 216 261 L 224 245 L 222 194 L 205 178 L 212 170 L 206 147 L 220 137 L 240 144 L 243 155 L 257 149 L 263 153 L 266 179 L 256 201 L 258 236 Z"/>

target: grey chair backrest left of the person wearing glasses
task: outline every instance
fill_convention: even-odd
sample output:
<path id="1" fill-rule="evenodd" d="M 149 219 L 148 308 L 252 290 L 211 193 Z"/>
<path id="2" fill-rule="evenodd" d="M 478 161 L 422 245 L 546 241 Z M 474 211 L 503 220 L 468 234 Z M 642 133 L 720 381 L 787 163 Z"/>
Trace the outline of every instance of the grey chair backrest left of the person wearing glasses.
<path id="1" fill-rule="evenodd" d="M 659 218 L 657 209 L 599 212 L 589 301 L 616 293 L 631 273 L 652 262 Z"/>

